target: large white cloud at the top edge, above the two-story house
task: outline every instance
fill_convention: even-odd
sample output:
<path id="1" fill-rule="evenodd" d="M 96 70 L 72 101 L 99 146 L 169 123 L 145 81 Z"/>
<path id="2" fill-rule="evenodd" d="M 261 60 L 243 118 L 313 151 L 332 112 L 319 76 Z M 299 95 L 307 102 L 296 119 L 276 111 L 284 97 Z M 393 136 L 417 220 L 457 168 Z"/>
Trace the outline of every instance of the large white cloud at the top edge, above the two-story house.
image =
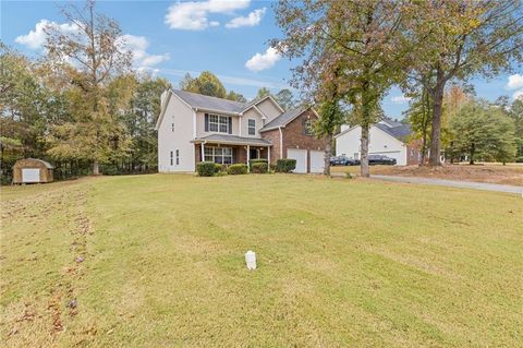
<path id="1" fill-rule="evenodd" d="M 218 26 L 217 21 L 209 21 L 210 13 L 230 14 L 235 10 L 248 8 L 251 0 L 207 0 L 177 2 L 166 14 L 165 23 L 171 29 L 203 31 Z"/>

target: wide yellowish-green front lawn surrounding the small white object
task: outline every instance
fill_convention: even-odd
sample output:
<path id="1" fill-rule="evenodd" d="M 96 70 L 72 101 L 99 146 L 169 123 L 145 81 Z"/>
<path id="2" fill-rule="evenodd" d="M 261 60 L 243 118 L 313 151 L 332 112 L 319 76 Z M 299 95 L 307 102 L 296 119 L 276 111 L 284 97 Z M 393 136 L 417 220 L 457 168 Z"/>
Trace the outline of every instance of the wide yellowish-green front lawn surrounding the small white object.
<path id="1" fill-rule="evenodd" d="M 293 175 L 106 177 L 1 194 L 2 346 L 523 337 L 515 195 Z"/>

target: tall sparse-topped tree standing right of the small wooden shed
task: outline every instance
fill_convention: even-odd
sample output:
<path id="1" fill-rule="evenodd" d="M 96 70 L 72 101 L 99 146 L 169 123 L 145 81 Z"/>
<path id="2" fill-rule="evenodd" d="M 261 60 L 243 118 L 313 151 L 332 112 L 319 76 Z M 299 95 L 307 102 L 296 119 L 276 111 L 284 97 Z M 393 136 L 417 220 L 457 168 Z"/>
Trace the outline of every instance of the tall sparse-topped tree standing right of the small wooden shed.
<path id="1" fill-rule="evenodd" d="M 117 115 L 109 112 L 105 93 L 114 75 L 131 67 L 132 53 L 124 48 L 119 24 L 96 12 L 94 1 L 87 0 L 84 8 L 64 8 L 62 12 L 76 32 L 63 33 L 49 25 L 46 48 L 47 58 L 74 85 L 74 120 L 53 128 L 48 153 L 54 158 L 89 159 L 93 173 L 98 175 L 100 163 L 127 149 L 124 127 Z"/>

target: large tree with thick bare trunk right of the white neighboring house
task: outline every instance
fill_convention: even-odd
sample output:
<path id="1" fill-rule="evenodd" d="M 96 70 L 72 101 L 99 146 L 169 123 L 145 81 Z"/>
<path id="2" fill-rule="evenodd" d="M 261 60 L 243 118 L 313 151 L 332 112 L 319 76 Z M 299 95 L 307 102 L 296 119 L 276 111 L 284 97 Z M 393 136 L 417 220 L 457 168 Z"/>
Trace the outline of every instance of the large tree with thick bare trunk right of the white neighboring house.
<path id="1" fill-rule="evenodd" d="M 433 101 L 429 163 L 438 166 L 447 83 L 489 77 L 521 62 L 523 12 L 519 0 L 417 1 L 410 9 L 409 33 L 416 49 L 408 70 Z"/>

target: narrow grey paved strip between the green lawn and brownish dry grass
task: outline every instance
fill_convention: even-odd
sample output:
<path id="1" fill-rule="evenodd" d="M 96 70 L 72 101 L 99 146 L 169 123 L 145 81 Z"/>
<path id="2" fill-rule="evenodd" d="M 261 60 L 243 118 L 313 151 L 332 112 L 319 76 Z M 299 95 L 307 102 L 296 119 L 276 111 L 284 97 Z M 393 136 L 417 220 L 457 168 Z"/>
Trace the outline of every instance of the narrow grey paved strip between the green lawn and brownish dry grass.
<path id="1" fill-rule="evenodd" d="M 449 187 L 449 188 L 475 189 L 475 190 L 484 190 L 484 191 L 516 193 L 516 194 L 523 195 L 522 187 L 514 187 L 510 184 L 457 181 L 457 180 L 443 180 L 443 179 L 417 178 L 417 177 L 398 177 L 398 176 L 372 176 L 370 178 L 386 180 L 386 181 L 394 181 L 394 182 L 435 184 L 435 185 Z"/>

